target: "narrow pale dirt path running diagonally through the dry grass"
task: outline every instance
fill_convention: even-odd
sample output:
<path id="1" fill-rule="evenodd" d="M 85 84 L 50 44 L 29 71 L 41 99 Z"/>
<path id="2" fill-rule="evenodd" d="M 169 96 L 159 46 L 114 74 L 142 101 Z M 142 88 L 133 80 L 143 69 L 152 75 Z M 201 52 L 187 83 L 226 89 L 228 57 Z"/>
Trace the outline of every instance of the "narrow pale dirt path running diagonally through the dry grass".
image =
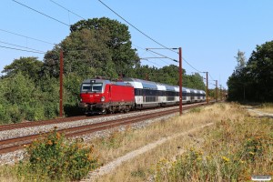
<path id="1" fill-rule="evenodd" d="M 165 142 L 167 142 L 168 140 L 172 140 L 172 139 L 175 139 L 176 137 L 179 137 L 179 136 L 187 136 L 188 134 L 190 133 L 194 133 L 196 132 L 197 130 L 199 129 L 202 129 L 206 126 L 211 126 L 213 125 L 213 123 L 208 123 L 206 125 L 203 125 L 203 126 L 198 126 L 196 128 L 193 128 L 191 130 L 188 130 L 187 132 L 183 132 L 183 133 L 180 133 L 180 134 L 176 134 L 176 135 L 173 135 L 173 136 L 167 136 L 167 137 L 164 137 L 160 140 L 157 140 L 157 142 L 154 142 L 154 143 L 151 143 L 151 144 L 148 144 L 147 146 L 145 147 L 141 147 L 135 151 L 132 151 L 128 154 L 126 154 L 125 156 L 123 157 L 118 157 L 116 158 L 116 160 L 106 164 L 104 167 L 100 167 L 98 168 L 96 171 L 93 171 L 93 172 L 90 172 L 88 174 L 88 176 L 82 180 L 82 182 L 86 182 L 86 181 L 94 181 L 96 179 L 96 177 L 100 177 L 100 176 L 103 176 L 103 175 L 106 175 L 108 173 L 110 173 L 111 171 L 113 171 L 116 167 L 119 167 L 122 165 L 123 162 L 126 162 L 134 157 L 137 157 L 155 147 L 158 147 L 162 144 L 164 144 Z"/>

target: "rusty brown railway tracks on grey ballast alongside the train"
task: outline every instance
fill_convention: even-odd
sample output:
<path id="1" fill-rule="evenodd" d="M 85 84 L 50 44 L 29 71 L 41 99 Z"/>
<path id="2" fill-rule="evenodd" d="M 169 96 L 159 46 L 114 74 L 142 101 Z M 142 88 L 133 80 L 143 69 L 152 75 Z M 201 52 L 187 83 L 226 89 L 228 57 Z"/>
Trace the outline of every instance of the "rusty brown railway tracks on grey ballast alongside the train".
<path id="1" fill-rule="evenodd" d="M 200 105 L 204 105 L 204 104 L 199 104 L 197 106 L 200 106 Z M 186 110 L 186 109 L 193 108 L 193 107 L 196 107 L 196 105 L 195 106 L 187 106 L 187 107 L 185 106 L 184 109 Z M 64 128 L 64 129 L 58 129 L 56 131 L 61 134 L 64 134 L 66 137 L 83 136 L 83 135 L 94 133 L 97 131 L 115 128 L 118 126 L 126 126 L 126 125 L 135 124 L 137 122 L 142 122 L 147 119 L 153 119 L 153 118 L 157 118 L 160 116 L 167 116 L 167 115 L 174 114 L 177 112 L 178 112 L 178 109 L 174 108 L 174 109 L 170 109 L 170 110 L 166 110 L 166 111 L 159 111 L 159 112 L 157 111 L 157 112 L 149 114 L 149 115 L 129 116 L 126 118 L 114 119 L 114 120 L 109 120 L 109 121 L 95 123 L 95 124 L 89 124 L 89 125 L 84 125 L 84 126 L 73 126 L 73 127 Z M 84 116 L 84 117 L 80 116 L 77 118 L 78 119 L 83 119 L 83 118 L 85 119 L 86 116 Z M 74 120 L 76 120 L 76 117 L 73 118 L 73 121 Z M 61 120 L 61 122 L 70 122 L 70 121 L 72 121 L 72 120 L 71 119 L 68 119 L 68 120 L 62 119 Z M 45 121 L 45 122 L 41 122 L 41 123 L 39 122 L 39 124 L 36 124 L 35 126 L 49 125 L 49 124 L 53 124 L 53 123 L 58 123 L 58 120 L 50 120 L 50 121 Z M 22 126 L 25 127 L 25 125 L 15 125 L 15 127 L 8 126 L 8 127 L 5 127 L 5 129 L 20 128 Z M 27 126 L 31 126 L 31 125 L 27 125 Z M 4 127 L 2 127 L 2 128 L 4 128 Z M 35 140 L 35 138 L 41 137 L 41 136 L 43 137 L 47 133 L 49 133 L 49 132 L 45 132 L 42 134 L 34 134 L 34 135 L 29 135 L 29 136 L 12 137 L 12 138 L 0 140 L 0 154 L 14 152 L 15 150 L 22 149 L 22 148 L 24 148 L 25 145 L 30 145 Z"/>

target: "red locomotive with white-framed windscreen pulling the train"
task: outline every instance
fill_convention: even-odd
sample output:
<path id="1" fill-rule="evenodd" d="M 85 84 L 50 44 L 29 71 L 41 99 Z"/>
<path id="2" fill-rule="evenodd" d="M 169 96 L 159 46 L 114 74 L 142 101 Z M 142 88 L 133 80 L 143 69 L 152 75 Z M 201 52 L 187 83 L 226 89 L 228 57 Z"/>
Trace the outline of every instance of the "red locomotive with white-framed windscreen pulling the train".
<path id="1" fill-rule="evenodd" d="M 80 97 L 79 106 L 86 108 L 86 114 L 127 112 L 135 105 L 133 86 L 105 79 L 86 79 Z"/>

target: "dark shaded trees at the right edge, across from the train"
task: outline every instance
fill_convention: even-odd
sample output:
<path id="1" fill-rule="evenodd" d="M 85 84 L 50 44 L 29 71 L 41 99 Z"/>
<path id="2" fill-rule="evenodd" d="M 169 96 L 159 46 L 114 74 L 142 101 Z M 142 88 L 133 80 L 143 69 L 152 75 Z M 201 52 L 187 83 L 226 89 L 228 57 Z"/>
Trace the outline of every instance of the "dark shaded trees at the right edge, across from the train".
<path id="1" fill-rule="evenodd" d="M 227 81 L 231 101 L 273 102 L 273 41 L 257 45 L 246 62 L 238 51 L 238 66 Z"/>

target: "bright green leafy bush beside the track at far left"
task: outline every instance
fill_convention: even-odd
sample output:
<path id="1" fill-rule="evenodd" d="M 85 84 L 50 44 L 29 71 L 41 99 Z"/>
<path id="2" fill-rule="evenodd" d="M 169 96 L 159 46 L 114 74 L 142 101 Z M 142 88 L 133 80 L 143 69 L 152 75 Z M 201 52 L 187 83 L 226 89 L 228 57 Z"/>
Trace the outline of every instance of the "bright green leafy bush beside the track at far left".
<path id="1" fill-rule="evenodd" d="M 4 110 L 0 114 L 2 122 L 16 123 L 22 119 L 39 120 L 44 118 L 44 106 L 39 102 L 39 91 L 35 83 L 21 72 L 1 81 L 1 100 Z M 3 106 L 1 106 L 3 107 Z"/>

